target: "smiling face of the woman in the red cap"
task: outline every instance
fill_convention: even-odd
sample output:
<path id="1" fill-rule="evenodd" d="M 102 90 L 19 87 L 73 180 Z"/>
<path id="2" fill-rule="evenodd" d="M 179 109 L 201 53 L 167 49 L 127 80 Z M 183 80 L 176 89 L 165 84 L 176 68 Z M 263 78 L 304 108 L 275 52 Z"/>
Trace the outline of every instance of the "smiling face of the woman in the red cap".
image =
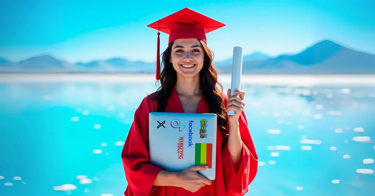
<path id="1" fill-rule="evenodd" d="M 204 50 L 198 39 L 178 39 L 172 45 L 170 61 L 177 75 L 193 77 L 201 71 Z"/>

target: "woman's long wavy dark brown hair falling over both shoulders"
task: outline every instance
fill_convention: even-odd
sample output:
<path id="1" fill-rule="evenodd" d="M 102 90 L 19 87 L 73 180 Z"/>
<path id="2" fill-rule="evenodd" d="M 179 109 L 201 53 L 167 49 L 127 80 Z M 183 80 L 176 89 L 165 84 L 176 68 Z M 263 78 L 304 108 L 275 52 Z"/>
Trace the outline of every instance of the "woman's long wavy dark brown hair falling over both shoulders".
<path id="1" fill-rule="evenodd" d="M 217 81 L 217 71 L 213 65 L 213 52 L 208 48 L 202 40 L 199 40 L 202 44 L 204 50 L 204 62 L 201 71 L 199 72 L 199 85 L 202 90 L 203 96 L 205 97 L 210 113 L 216 113 L 217 115 L 217 125 L 220 128 L 223 136 L 227 136 L 226 131 L 226 113 L 224 98 L 222 95 L 223 86 Z M 172 43 L 169 44 L 167 49 L 162 53 L 162 65 L 163 69 L 160 72 L 160 87 L 154 93 L 154 96 L 151 97 L 153 100 L 156 100 L 158 103 L 157 112 L 164 112 L 167 106 L 168 97 L 171 94 L 172 88 L 174 88 L 177 81 L 177 72 L 173 68 L 172 63 L 169 61 L 169 57 L 172 52 Z M 221 91 L 219 90 L 219 87 Z"/>

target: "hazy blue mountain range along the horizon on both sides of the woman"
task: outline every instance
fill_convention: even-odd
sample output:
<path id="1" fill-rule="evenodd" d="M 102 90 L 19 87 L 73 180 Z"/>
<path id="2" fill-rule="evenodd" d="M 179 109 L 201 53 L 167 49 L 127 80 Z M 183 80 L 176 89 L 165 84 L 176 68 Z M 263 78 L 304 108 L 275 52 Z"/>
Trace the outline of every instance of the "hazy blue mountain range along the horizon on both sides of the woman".
<path id="1" fill-rule="evenodd" d="M 232 58 L 214 62 L 219 73 L 230 74 Z M 69 63 L 52 55 L 19 62 L 0 57 L 0 73 L 155 73 L 156 63 L 121 57 Z M 270 57 L 261 52 L 243 56 L 243 74 L 375 74 L 375 55 L 322 40 L 293 55 Z"/>

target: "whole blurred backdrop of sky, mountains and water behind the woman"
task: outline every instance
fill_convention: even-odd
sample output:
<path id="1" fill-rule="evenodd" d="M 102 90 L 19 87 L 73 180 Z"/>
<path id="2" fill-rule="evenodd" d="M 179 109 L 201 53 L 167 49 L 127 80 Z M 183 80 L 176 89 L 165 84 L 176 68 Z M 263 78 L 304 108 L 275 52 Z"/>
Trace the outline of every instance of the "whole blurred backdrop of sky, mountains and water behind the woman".
<path id="1" fill-rule="evenodd" d="M 123 195 L 121 150 L 159 86 L 147 25 L 184 7 L 226 24 L 207 34 L 224 92 L 243 47 L 246 195 L 374 195 L 374 1 L 2 0 L 0 196 Z"/>

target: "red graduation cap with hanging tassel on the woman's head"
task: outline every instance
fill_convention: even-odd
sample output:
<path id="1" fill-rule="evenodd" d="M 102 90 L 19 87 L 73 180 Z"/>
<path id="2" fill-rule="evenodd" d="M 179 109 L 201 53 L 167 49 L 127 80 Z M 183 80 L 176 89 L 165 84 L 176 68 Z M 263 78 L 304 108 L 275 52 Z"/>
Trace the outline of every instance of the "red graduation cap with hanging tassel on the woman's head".
<path id="1" fill-rule="evenodd" d="M 206 34 L 218 28 L 224 27 L 225 24 L 208 18 L 189 8 L 184 8 L 163 19 L 147 25 L 156 29 L 157 32 L 157 60 L 156 60 L 156 80 L 160 79 L 160 32 L 169 34 L 168 45 L 177 39 L 197 38 L 207 44 Z"/>

